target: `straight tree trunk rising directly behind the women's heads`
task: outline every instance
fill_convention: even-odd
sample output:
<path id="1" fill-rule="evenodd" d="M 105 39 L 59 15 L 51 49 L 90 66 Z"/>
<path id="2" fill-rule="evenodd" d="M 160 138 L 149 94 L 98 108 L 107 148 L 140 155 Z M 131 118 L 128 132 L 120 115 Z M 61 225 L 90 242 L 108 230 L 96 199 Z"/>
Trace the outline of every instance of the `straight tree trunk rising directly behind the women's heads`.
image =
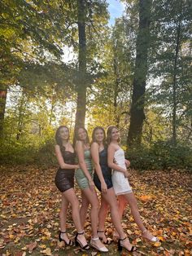
<path id="1" fill-rule="evenodd" d="M 79 80 L 76 85 L 77 105 L 75 128 L 85 126 L 86 110 L 86 34 L 85 34 L 85 0 L 77 0 L 79 31 Z"/>

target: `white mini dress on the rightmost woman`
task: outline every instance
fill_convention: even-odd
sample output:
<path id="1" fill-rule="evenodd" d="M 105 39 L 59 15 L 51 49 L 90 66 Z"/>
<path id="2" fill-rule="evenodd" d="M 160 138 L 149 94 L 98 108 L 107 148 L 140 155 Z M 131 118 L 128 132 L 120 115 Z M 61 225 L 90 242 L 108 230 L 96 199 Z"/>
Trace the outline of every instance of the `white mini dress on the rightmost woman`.
<path id="1" fill-rule="evenodd" d="M 125 170 L 127 169 L 124 163 L 124 150 L 122 148 L 116 150 L 114 160 L 116 161 L 117 166 L 120 166 Z M 125 178 L 124 174 L 118 170 L 113 170 L 112 183 L 116 195 L 124 195 L 132 192 L 128 179 Z"/>

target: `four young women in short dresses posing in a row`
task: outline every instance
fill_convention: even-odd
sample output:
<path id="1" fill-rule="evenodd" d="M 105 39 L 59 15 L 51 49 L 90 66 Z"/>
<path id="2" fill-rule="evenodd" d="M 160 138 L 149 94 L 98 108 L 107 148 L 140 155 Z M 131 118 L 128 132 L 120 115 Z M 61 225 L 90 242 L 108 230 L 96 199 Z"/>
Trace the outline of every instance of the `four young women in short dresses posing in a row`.
<path id="1" fill-rule="evenodd" d="M 67 210 L 68 205 L 71 204 L 72 219 L 77 231 L 76 245 L 80 245 L 83 249 L 89 249 L 90 245 L 100 252 L 107 252 L 105 244 L 109 244 L 111 240 L 105 236 L 104 231 L 107 211 L 110 208 L 118 249 L 124 247 L 129 252 L 135 251 L 136 247 L 130 244 L 121 226 L 121 218 L 127 203 L 135 223 L 142 232 L 142 237 L 150 242 L 158 241 L 158 238 L 146 229 L 139 214 L 137 200 L 127 179 L 129 176 L 127 167 L 130 163 L 124 158 L 124 150 L 120 148 L 120 133 L 116 126 L 108 127 L 107 137 L 103 127 L 95 127 L 91 143 L 87 130 L 79 127 L 75 130 L 74 147 L 69 141 L 68 127 L 59 126 L 55 139 L 55 154 L 59 162 L 55 184 L 62 192 L 59 241 L 73 245 L 66 234 Z M 81 188 L 81 207 L 74 191 L 74 176 Z M 100 205 L 95 187 L 101 192 Z M 92 236 L 88 245 L 84 226 L 89 205 L 91 205 Z"/>

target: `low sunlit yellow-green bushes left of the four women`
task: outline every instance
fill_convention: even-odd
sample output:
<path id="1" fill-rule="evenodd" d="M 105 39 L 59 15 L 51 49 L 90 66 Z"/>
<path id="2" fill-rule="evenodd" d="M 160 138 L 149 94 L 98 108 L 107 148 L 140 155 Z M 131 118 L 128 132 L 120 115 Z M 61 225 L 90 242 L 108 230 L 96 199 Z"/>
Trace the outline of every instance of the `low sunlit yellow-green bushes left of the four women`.
<path id="1" fill-rule="evenodd" d="M 46 131 L 46 138 L 43 139 L 37 135 L 21 137 L 19 140 L 12 138 L 9 143 L 7 139 L 1 139 L 0 164 L 55 164 L 54 135 L 55 132 L 50 130 L 50 132 Z"/>

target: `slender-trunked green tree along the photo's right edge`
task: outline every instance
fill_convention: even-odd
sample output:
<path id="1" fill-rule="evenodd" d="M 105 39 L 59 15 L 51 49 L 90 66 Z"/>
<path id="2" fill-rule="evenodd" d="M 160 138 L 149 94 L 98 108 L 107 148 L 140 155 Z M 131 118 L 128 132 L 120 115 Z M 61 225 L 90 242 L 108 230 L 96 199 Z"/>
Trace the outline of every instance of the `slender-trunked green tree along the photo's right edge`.
<path id="1" fill-rule="evenodd" d="M 153 2 L 149 64 L 151 103 L 159 105 L 168 120 L 168 139 L 189 136 L 191 130 L 190 1 Z M 186 132 L 186 133 L 185 133 Z"/>

